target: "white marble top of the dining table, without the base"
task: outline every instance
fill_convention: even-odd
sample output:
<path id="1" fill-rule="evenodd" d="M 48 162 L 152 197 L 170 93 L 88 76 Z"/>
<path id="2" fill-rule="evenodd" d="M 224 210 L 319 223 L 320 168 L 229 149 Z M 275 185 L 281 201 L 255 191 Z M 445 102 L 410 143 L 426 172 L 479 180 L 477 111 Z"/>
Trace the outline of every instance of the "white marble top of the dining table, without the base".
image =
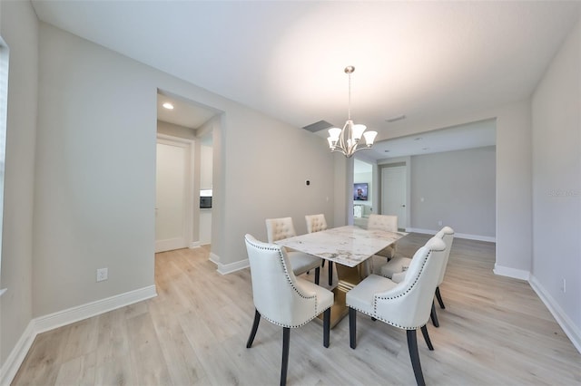
<path id="1" fill-rule="evenodd" d="M 275 243 L 352 267 L 406 235 L 403 232 L 345 226 L 289 237 Z"/>

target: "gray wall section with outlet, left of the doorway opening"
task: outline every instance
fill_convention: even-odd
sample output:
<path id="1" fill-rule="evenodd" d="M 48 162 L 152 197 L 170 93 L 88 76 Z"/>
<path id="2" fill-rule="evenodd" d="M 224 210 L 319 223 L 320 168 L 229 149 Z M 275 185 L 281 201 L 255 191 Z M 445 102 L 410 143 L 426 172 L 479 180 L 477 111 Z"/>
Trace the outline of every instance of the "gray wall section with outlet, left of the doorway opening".
<path id="1" fill-rule="evenodd" d="M 33 316 L 154 284 L 156 78 L 40 24 Z"/>

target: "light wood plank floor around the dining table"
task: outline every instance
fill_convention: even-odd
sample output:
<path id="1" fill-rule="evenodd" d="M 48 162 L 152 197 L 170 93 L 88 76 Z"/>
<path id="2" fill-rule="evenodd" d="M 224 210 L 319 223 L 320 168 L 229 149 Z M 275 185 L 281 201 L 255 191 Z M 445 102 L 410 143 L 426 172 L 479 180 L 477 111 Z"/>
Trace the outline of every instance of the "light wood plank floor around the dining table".
<path id="1" fill-rule="evenodd" d="M 410 234 L 399 252 L 410 256 L 427 239 Z M 427 383 L 581 384 L 581 354 L 526 282 L 492 273 L 494 254 L 492 243 L 454 240 L 440 287 L 446 309 L 439 328 L 428 323 L 436 350 L 418 340 Z M 206 249 L 184 249 L 156 256 L 155 281 L 156 298 L 38 335 L 13 385 L 279 382 L 281 328 L 262 320 L 246 349 L 249 269 L 219 275 Z M 406 333 L 359 314 L 351 350 L 348 318 L 331 330 L 329 349 L 320 323 L 292 330 L 288 384 L 415 384 Z"/>

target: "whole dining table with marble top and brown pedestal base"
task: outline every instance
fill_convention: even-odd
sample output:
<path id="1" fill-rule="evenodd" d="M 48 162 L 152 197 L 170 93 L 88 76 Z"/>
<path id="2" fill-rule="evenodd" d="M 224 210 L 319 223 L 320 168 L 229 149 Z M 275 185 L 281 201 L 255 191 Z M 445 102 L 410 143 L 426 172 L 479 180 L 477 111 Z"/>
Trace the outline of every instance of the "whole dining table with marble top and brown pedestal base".
<path id="1" fill-rule="evenodd" d="M 405 232 L 344 226 L 293 236 L 275 243 L 336 263 L 339 280 L 331 289 L 335 294 L 330 318 L 330 327 L 333 328 L 349 314 L 346 294 L 371 273 L 369 258 L 406 235 Z"/>

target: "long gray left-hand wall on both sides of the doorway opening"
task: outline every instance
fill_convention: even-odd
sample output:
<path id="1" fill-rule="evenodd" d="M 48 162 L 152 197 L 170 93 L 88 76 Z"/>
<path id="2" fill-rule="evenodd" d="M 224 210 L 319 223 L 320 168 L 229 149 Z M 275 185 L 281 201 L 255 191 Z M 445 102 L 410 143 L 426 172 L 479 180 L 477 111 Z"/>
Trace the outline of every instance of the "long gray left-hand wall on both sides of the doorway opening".
<path id="1" fill-rule="evenodd" d="M 158 88 L 225 111 L 219 265 L 246 259 L 244 233 L 265 239 L 265 217 L 306 231 L 305 214 L 332 216 L 332 157 L 310 132 L 46 24 L 40 63 L 34 316 L 153 285 Z M 100 266 L 109 280 L 97 284 Z"/>

